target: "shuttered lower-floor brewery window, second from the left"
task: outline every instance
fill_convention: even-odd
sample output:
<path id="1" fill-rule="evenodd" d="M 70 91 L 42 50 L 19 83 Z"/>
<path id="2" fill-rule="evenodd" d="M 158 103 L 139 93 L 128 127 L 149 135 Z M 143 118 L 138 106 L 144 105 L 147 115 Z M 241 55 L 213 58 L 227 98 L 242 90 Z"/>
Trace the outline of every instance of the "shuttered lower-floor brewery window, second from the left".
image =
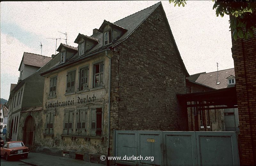
<path id="1" fill-rule="evenodd" d="M 65 110 L 63 126 L 63 134 L 65 135 L 72 135 L 73 133 L 73 115 L 73 110 Z"/>

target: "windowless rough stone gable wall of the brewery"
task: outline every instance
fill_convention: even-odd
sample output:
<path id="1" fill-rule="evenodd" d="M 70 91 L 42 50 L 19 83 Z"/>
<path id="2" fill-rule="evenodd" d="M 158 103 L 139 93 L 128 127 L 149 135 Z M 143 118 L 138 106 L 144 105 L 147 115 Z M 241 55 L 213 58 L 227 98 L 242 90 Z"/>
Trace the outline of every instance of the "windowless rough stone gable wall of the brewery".
<path id="1" fill-rule="evenodd" d="M 176 97 L 186 93 L 186 72 L 161 8 L 116 46 L 111 62 L 110 147 L 113 129 L 187 130 Z"/>

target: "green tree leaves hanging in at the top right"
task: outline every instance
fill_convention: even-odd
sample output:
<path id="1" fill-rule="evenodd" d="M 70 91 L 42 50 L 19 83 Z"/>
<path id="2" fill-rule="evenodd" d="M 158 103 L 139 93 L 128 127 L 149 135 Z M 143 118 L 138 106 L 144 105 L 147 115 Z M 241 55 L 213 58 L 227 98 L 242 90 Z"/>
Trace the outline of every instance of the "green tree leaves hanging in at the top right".
<path id="1" fill-rule="evenodd" d="M 225 14 L 230 17 L 229 28 L 233 32 L 232 37 L 236 40 L 240 38 L 253 37 L 253 31 L 256 29 L 256 1 L 255 0 L 212 0 L 214 2 L 212 9 L 216 9 L 216 16 L 223 17 Z M 186 0 L 169 0 L 174 6 L 186 4 Z"/>

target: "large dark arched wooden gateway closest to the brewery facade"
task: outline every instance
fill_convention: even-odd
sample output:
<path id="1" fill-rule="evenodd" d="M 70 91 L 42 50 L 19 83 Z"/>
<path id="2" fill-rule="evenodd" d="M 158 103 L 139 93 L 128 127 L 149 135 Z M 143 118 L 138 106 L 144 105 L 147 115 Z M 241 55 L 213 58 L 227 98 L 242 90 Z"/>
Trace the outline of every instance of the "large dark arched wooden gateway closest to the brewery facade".
<path id="1" fill-rule="evenodd" d="M 30 149 L 34 143 L 34 130 L 35 121 L 32 116 L 28 116 L 23 127 L 23 142 L 25 146 L 29 147 Z"/>

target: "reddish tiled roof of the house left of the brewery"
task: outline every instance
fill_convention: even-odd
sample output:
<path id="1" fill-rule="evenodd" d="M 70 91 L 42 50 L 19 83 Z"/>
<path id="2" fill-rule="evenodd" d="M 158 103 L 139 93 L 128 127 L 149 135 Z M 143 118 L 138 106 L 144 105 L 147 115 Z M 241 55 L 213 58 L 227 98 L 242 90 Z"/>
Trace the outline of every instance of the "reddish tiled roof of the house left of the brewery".
<path id="1" fill-rule="evenodd" d="M 22 57 L 24 65 L 35 66 L 35 67 L 43 67 L 51 59 L 52 59 L 51 57 L 46 57 L 46 56 L 28 53 L 28 52 L 24 52 Z M 22 60 L 20 62 L 20 67 L 22 64 Z M 20 67 L 19 67 L 19 71 L 20 71 Z"/>

